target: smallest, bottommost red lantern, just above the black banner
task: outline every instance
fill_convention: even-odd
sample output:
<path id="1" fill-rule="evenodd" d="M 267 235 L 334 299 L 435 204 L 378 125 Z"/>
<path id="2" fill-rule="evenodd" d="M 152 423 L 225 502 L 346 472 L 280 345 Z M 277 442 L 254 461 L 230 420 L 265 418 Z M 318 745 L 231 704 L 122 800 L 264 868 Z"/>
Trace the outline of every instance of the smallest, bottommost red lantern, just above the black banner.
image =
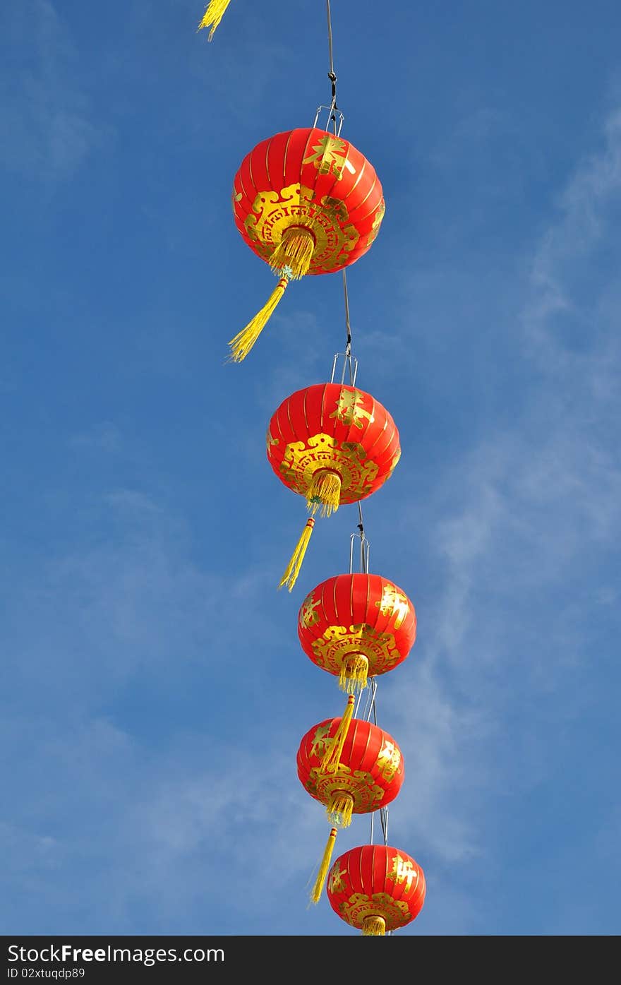
<path id="1" fill-rule="evenodd" d="M 425 877 L 409 855 L 388 845 L 361 845 L 341 855 L 328 878 L 330 905 L 365 936 L 398 930 L 418 916 Z"/>

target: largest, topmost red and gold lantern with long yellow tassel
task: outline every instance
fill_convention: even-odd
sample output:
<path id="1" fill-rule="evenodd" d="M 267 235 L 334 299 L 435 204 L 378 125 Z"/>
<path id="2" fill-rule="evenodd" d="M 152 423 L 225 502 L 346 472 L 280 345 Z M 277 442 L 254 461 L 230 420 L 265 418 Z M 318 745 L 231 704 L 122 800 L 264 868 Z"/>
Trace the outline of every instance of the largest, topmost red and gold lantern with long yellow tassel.
<path id="1" fill-rule="evenodd" d="M 331 274 L 369 249 L 385 212 L 375 170 L 347 140 L 317 127 L 278 133 L 246 155 L 233 181 L 235 225 L 279 283 L 231 339 L 231 359 L 250 352 L 287 284 Z"/>

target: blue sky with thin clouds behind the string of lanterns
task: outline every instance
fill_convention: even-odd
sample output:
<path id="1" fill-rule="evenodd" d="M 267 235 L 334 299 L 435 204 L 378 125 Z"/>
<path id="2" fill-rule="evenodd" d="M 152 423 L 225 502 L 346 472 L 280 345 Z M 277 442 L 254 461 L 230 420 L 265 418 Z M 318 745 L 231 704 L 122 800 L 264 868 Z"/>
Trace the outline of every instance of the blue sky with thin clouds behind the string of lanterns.
<path id="1" fill-rule="evenodd" d="M 416 607 L 380 680 L 404 752 L 403 935 L 621 930 L 621 13 L 605 0 L 334 0 L 343 136 L 387 201 L 348 272 L 358 383 L 403 458 L 364 502 Z M 325 5 L 0 11 L 6 934 L 341 935 L 295 772 L 342 695 L 297 642 L 355 507 L 265 456 L 342 349 L 340 276 L 274 282 L 230 215 L 260 140 L 329 97 Z M 368 840 L 368 820 L 338 850 Z"/>

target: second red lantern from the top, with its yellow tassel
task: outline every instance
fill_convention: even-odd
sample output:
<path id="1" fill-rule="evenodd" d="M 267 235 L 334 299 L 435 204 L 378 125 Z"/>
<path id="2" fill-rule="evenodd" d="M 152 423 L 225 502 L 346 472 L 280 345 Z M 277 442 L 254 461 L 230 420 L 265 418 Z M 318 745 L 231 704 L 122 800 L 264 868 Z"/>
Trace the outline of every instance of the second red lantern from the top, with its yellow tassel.
<path id="1" fill-rule="evenodd" d="M 375 493 L 401 456 L 388 411 L 370 394 L 341 383 L 317 383 L 287 397 L 270 422 L 267 444 L 280 482 L 306 498 L 311 514 L 320 509 L 325 516 Z M 280 579 L 289 591 L 314 524 L 311 516 Z"/>

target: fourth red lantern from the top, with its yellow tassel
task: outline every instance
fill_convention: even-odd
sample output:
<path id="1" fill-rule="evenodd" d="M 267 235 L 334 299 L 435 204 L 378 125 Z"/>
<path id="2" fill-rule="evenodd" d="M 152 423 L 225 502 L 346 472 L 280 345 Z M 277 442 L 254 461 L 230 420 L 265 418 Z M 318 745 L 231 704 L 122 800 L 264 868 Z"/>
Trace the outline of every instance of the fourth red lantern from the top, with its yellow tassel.
<path id="1" fill-rule="evenodd" d="M 379 811 L 395 800 L 404 782 L 404 757 L 393 737 L 377 725 L 327 718 L 302 739 L 297 775 L 311 797 L 325 805 L 333 825 L 311 893 L 317 902 L 338 829 L 347 827 L 352 815 Z"/>

